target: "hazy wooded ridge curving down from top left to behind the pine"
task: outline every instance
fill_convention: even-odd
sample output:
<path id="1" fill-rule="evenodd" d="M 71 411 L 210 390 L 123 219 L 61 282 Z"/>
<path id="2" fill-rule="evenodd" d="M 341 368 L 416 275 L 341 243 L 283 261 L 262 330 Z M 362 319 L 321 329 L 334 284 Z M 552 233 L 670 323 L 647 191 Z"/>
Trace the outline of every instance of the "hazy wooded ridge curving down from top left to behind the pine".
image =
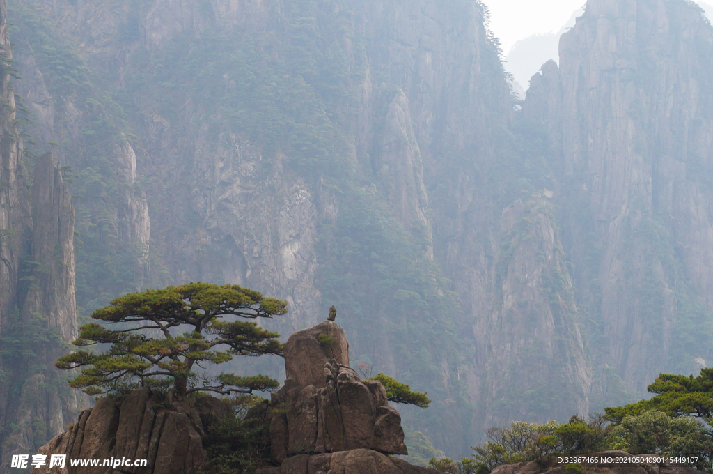
<path id="1" fill-rule="evenodd" d="M 77 296 L 81 308 L 148 286 L 150 219 L 137 183 L 125 114 L 98 74 L 50 24 L 11 6 L 15 67 L 29 153 L 51 149 L 71 176 L 77 208 Z"/>

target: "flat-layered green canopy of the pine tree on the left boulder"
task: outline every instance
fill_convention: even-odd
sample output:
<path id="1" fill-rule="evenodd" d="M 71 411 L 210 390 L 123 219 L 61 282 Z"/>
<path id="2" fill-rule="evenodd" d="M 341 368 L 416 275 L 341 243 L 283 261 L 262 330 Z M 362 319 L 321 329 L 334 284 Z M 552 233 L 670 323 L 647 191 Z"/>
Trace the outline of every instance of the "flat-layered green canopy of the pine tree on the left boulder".
<path id="1" fill-rule="evenodd" d="M 78 350 L 59 358 L 58 368 L 81 368 L 69 382 L 90 395 L 168 381 L 175 395 L 207 391 L 229 395 L 276 388 L 265 375 L 200 375 L 194 366 L 221 364 L 232 356 L 282 355 L 279 334 L 252 321 L 287 313 L 287 302 L 237 285 L 189 283 L 116 298 L 80 328 L 75 346 L 111 345 L 105 351 Z M 102 347 L 103 348 L 103 347 Z"/>

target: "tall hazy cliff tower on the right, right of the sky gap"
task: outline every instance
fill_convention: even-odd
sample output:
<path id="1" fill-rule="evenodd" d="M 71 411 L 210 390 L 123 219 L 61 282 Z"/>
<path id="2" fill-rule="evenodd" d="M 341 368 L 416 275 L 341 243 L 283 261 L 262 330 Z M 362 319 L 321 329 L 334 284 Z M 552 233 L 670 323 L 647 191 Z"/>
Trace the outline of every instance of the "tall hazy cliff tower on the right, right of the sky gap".
<path id="1" fill-rule="evenodd" d="M 590 348 L 640 393 L 709 359 L 712 48 L 694 4 L 592 0 L 523 105 L 563 163 Z"/>

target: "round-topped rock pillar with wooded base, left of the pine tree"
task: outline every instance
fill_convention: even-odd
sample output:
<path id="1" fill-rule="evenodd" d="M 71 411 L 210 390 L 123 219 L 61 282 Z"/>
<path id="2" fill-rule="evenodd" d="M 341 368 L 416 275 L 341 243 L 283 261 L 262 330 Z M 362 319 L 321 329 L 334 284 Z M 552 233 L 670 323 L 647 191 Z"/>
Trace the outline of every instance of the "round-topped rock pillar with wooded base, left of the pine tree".
<path id="1" fill-rule="evenodd" d="M 15 280 L 16 306 L 3 315 L 0 334 L 6 380 L 0 398 L 4 460 L 61 433 L 86 404 L 53 367 L 65 344 L 77 336 L 74 208 L 51 153 L 37 158 L 33 169 L 29 248 Z M 1 467 L 3 472 L 7 468 Z"/>

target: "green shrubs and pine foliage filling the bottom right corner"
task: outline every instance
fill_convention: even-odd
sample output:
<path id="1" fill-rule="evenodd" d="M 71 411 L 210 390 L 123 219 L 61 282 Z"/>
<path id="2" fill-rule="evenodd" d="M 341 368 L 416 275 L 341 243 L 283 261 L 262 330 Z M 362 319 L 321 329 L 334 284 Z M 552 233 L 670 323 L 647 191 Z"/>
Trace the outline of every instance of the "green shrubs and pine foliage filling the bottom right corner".
<path id="1" fill-rule="evenodd" d="M 498 465 L 527 461 L 545 467 L 553 455 L 624 450 L 632 455 L 695 458 L 697 462 L 687 464 L 713 472 L 712 380 L 713 369 L 702 369 L 698 377 L 662 373 L 648 387 L 657 394 L 650 399 L 606 408 L 605 415 L 589 420 L 574 415 L 568 423 L 515 421 L 508 427 L 493 426 L 486 431 L 488 440 L 473 446 L 472 458 L 434 458 L 429 465 L 441 473 L 488 474 Z"/>

